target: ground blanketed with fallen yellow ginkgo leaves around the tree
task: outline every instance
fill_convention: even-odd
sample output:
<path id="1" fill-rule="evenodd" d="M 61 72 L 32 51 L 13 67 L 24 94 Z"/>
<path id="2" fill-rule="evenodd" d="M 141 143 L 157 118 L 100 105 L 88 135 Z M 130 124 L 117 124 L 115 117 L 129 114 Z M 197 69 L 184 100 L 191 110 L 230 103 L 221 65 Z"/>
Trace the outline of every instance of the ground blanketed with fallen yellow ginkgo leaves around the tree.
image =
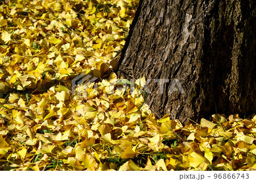
<path id="1" fill-rule="evenodd" d="M 113 81 L 137 6 L 0 1 L 0 170 L 256 169 L 255 115 L 182 125 Z"/>

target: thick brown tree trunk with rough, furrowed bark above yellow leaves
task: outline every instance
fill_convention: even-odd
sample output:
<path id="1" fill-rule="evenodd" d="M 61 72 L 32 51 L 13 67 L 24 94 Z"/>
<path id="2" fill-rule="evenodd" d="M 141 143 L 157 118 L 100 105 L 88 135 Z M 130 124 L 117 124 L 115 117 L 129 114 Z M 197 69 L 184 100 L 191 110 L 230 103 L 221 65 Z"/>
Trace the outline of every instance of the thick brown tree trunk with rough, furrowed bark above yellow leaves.
<path id="1" fill-rule="evenodd" d="M 184 123 L 212 113 L 250 115 L 255 22 L 253 0 L 141 0 L 119 69 L 152 80 L 146 103 L 159 117 L 168 113 Z"/>

